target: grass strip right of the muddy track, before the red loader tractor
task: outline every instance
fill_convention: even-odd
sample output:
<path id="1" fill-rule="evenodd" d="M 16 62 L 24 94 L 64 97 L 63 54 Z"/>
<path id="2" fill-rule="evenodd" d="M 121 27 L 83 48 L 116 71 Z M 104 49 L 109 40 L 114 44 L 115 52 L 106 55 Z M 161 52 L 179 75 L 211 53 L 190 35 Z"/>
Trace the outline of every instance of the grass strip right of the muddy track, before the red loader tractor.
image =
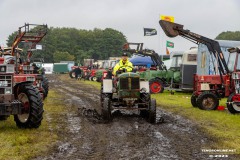
<path id="1" fill-rule="evenodd" d="M 214 149 L 236 149 L 240 153 L 240 115 L 232 115 L 228 111 L 204 111 L 191 105 L 191 94 L 164 91 L 162 94 L 152 95 L 157 100 L 158 107 L 186 117 L 197 124 L 216 143 Z M 226 106 L 226 98 L 220 101 L 220 105 Z"/>

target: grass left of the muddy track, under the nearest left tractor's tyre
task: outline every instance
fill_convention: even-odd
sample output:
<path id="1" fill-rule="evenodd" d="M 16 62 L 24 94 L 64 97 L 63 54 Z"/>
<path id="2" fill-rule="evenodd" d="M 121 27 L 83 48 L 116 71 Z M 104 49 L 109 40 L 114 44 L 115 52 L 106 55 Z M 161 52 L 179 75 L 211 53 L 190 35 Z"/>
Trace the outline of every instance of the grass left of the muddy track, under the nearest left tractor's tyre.
<path id="1" fill-rule="evenodd" d="M 38 129 L 19 129 L 13 116 L 0 121 L 1 160 L 25 160 L 49 152 L 59 137 L 56 134 L 57 122 L 47 116 L 64 111 L 64 106 L 56 104 L 54 99 L 60 99 L 59 95 L 49 91 L 48 98 L 44 101 L 44 119 Z"/>

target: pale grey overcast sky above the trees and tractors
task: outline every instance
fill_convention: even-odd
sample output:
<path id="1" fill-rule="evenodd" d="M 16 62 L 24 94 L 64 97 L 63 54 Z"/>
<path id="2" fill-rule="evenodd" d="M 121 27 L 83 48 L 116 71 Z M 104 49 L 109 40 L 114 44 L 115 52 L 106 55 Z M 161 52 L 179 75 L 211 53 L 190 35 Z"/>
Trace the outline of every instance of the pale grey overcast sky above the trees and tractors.
<path id="1" fill-rule="evenodd" d="M 181 37 L 165 36 L 160 15 L 175 17 L 185 29 L 214 39 L 222 31 L 240 31 L 239 0 L 0 0 L 0 43 L 24 23 L 78 29 L 113 28 L 129 42 L 165 54 L 166 40 L 174 42 L 170 51 L 195 46 Z M 143 36 L 143 28 L 155 28 L 157 36 Z"/>

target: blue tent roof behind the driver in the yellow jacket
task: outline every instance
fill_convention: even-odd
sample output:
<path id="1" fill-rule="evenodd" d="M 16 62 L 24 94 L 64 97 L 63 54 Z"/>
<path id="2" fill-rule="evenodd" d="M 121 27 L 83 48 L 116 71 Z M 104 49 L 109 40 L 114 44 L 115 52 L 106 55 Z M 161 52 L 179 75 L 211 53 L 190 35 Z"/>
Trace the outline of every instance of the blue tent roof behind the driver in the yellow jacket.
<path id="1" fill-rule="evenodd" d="M 134 66 L 147 66 L 147 65 L 154 65 L 151 57 L 149 56 L 133 56 L 132 58 L 129 59 L 130 62 L 132 62 L 132 64 Z"/>

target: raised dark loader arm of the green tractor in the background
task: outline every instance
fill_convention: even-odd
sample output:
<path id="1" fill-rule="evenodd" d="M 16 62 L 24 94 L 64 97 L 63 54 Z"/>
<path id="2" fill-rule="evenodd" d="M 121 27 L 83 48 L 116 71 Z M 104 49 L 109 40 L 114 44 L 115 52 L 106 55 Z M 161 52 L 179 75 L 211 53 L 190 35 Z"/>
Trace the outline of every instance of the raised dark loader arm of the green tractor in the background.
<path id="1" fill-rule="evenodd" d="M 130 46 L 135 46 L 136 49 L 132 49 Z M 143 43 L 126 43 L 123 46 L 123 51 L 139 56 L 149 56 L 154 65 L 158 66 L 160 70 L 164 69 L 164 63 L 162 62 L 161 57 L 154 50 L 143 49 Z"/>

